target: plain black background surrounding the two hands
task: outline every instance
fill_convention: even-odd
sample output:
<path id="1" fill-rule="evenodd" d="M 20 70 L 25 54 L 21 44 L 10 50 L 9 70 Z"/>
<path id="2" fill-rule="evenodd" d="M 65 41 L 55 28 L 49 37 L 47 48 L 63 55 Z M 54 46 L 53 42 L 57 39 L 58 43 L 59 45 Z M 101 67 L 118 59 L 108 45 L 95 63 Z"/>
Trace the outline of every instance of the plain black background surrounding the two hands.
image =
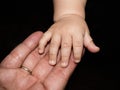
<path id="1" fill-rule="evenodd" d="M 53 23 L 52 0 L 0 2 L 0 60 L 32 32 Z M 66 90 L 120 90 L 119 5 L 110 0 L 88 0 L 86 21 L 101 51 L 86 50 Z"/>

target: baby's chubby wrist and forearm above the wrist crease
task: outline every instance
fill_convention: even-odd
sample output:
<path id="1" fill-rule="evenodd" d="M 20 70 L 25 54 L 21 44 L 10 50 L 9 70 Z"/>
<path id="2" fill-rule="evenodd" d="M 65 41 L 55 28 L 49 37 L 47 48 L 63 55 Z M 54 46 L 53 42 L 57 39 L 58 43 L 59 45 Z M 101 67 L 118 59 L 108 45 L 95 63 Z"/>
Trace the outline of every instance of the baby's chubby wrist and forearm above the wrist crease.
<path id="1" fill-rule="evenodd" d="M 85 6 L 86 0 L 54 0 L 53 21 L 56 22 L 66 15 L 78 15 L 85 18 Z"/>

